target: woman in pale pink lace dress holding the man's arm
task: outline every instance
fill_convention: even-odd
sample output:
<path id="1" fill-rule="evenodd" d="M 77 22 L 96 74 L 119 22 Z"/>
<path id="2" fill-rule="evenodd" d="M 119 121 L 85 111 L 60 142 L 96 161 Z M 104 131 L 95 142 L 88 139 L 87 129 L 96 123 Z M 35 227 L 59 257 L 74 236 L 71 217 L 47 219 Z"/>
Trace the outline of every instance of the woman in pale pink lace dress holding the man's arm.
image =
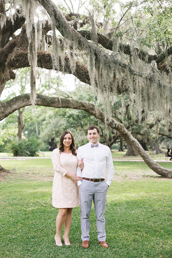
<path id="1" fill-rule="evenodd" d="M 56 218 L 55 243 L 62 246 L 61 228 L 64 224 L 63 240 L 65 245 L 70 245 L 69 230 L 72 221 L 72 208 L 78 206 L 79 189 L 76 180 L 81 180 L 76 175 L 77 164 L 84 167 L 82 161 L 76 157 L 75 141 L 70 131 L 64 131 L 60 136 L 60 146 L 53 150 L 52 163 L 55 169 L 52 206 L 59 208 Z"/>

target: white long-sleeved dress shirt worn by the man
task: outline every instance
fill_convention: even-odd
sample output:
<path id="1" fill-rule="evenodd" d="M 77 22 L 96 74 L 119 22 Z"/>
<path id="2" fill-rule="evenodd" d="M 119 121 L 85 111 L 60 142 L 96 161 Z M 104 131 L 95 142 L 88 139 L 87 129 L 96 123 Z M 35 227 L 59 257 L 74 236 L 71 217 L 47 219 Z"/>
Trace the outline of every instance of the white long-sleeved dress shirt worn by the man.
<path id="1" fill-rule="evenodd" d="M 84 168 L 83 171 L 81 171 L 80 167 L 77 167 L 77 176 L 93 179 L 105 178 L 106 170 L 106 183 L 110 186 L 113 179 L 114 167 L 112 154 L 108 146 L 99 143 L 99 147 L 91 148 L 91 142 L 88 142 L 78 148 L 77 159 L 81 160 L 81 158 L 84 162 Z M 81 181 L 78 181 L 78 186 L 81 183 Z"/>

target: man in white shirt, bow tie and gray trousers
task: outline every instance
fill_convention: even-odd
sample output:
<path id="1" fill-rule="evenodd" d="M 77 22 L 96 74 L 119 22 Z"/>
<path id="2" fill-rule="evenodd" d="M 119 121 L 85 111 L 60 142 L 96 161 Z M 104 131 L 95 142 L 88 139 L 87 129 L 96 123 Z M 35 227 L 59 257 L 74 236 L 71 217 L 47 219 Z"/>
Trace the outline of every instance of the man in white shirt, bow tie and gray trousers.
<path id="1" fill-rule="evenodd" d="M 99 129 L 96 126 L 89 126 L 87 138 L 89 142 L 78 148 L 78 164 L 84 162 L 83 170 L 77 168 L 77 176 L 82 177 L 78 181 L 80 188 L 80 210 L 81 210 L 81 239 L 82 247 L 89 247 L 89 214 L 92 200 L 96 213 L 96 224 L 98 241 L 102 247 L 107 248 L 105 218 L 107 190 L 112 182 L 114 167 L 110 148 L 98 142 Z M 105 182 L 105 169 L 107 170 L 107 181 Z"/>

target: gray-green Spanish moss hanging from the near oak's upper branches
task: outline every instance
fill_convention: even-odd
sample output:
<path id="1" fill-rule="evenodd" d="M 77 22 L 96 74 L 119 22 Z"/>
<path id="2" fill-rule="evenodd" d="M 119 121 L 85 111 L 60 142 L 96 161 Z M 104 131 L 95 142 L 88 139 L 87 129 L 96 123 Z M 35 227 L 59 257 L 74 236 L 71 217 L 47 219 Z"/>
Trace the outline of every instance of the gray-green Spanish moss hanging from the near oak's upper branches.
<path id="1" fill-rule="evenodd" d="M 70 69 L 73 74 L 75 74 L 77 58 L 81 56 L 83 60 L 87 60 L 92 91 L 94 94 L 97 92 L 101 96 L 105 113 L 105 123 L 111 120 L 112 99 L 116 98 L 118 88 L 122 85 L 125 86 L 129 92 L 131 100 L 136 101 L 138 119 L 141 120 L 141 112 L 144 109 L 145 114 L 149 115 L 149 111 L 152 111 L 154 119 L 158 116 L 160 120 L 165 120 L 165 124 L 168 126 L 169 110 L 172 110 L 170 59 L 166 57 L 166 69 L 168 70 L 168 74 L 162 74 L 157 69 L 155 61 L 149 64 L 138 58 L 136 47 L 139 51 L 140 46 L 137 42 L 139 42 L 139 38 L 143 37 L 146 32 L 143 32 L 141 35 L 140 31 L 135 27 L 132 16 L 129 16 L 128 21 L 123 24 L 124 30 L 126 29 L 126 41 L 129 43 L 131 52 L 130 58 L 126 59 L 124 53 L 118 53 L 121 39 L 118 27 L 113 39 L 112 53 L 105 52 L 97 44 L 97 27 L 91 14 L 89 14 L 89 22 L 91 25 L 90 33 L 92 42 L 88 42 L 71 27 L 58 6 L 55 6 L 51 1 L 49 1 L 49 3 L 48 13 L 53 31 L 53 68 L 60 69 L 59 61 L 61 61 L 62 67 L 64 68 L 65 53 L 68 54 Z M 37 43 L 37 33 L 39 37 L 41 35 L 41 23 L 39 23 L 38 32 L 36 24 L 36 19 L 38 19 L 36 13 L 38 1 L 13 0 L 10 2 L 10 7 L 11 9 L 15 9 L 16 14 L 17 8 L 20 8 L 21 13 L 18 15 L 23 15 L 26 18 L 27 35 L 29 39 L 28 59 L 31 65 L 32 76 L 31 101 L 32 105 L 34 105 L 36 99 L 35 74 L 37 65 L 37 44 L 40 45 Z M 43 9 L 40 8 L 40 11 L 42 11 L 45 16 L 45 10 L 43 11 Z M 3 22 L 5 22 L 5 18 L 2 19 L 1 26 Z M 56 35 L 57 27 L 63 35 L 61 39 Z M 126 62 L 124 62 L 124 60 L 126 60 Z M 124 102 L 122 102 L 122 106 L 124 106 Z"/>

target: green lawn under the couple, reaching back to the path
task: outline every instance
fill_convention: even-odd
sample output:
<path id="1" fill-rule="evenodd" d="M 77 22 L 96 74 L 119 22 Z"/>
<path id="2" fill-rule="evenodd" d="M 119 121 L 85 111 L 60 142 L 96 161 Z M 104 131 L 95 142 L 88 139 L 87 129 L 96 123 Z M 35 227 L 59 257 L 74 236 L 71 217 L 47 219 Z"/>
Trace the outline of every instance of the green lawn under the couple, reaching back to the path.
<path id="1" fill-rule="evenodd" d="M 0 163 L 13 171 L 0 181 L 0 258 L 172 257 L 172 180 L 158 176 L 145 163 L 114 162 L 105 212 L 108 249 L 97 241 L 94 206 L 90 247 L 81 247 L 79 207 L 72 212 L 72 245 L 55 245 L 58 209 L 51 206 L 51 159 Z M 170 163 L 161 165 L 171 167 Z"/>

